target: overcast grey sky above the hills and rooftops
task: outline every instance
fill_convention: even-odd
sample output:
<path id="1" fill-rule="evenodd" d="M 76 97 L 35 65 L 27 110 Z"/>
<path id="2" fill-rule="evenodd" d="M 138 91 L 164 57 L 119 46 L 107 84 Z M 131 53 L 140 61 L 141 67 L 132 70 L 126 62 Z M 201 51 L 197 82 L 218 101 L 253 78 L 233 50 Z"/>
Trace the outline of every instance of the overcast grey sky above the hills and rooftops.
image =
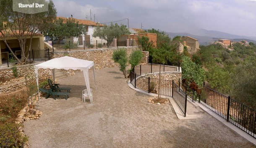
<path id="1" fill-rule="evenodd" d="M 196 29 L 256 36 L 256 0 L 53 0 L 57 15 L 129 28 L 196 34 Z M 91 10 L 91 17 L 90 17 Z M 123 20 L 125 19 L 125 20 Z"/>

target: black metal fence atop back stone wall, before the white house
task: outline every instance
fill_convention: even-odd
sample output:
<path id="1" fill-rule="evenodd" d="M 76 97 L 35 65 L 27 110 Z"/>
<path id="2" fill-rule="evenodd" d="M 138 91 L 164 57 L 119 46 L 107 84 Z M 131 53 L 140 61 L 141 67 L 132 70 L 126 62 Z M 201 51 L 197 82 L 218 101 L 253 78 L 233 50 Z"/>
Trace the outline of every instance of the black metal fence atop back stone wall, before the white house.
<path id="1" fill-rule="evenodd" d="M 127 41 L 117 41 L 118 46 L 127 47 Z M 133 42 L 131 44 L 133 46 Z M 52 52 L 58 51 L 76 51 L 86 49 L 98 49 L 98 48 L 110 48 L 113 47 L 113 43 L 107 44 L 106 41 L 52 41 Z"/>

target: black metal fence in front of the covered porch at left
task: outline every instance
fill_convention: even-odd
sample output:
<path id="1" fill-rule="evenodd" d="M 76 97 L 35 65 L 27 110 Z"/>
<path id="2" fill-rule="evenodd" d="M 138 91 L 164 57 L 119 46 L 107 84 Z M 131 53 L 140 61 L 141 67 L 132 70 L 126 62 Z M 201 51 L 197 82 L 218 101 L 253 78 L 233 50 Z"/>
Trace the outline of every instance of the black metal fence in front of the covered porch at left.
<path id="1" fill-rule="evenodd" d="M 27 62 L 29 62 L 30 64 L 39 63 L 50 60 L 50 51 L 49 49 L 32 49 L 31 51 L 27 52 L 25 56 L 28 57 Z M 21 61 L 21 59 L 19 60 Z M 0 68 L 11 67 L 16 64 L 19 64 L 19 61 L 17 59 L 14 59 L 11 54 L 8 54 L 4 59 L 2 59 L 2 64 L 0 64 Z"/>

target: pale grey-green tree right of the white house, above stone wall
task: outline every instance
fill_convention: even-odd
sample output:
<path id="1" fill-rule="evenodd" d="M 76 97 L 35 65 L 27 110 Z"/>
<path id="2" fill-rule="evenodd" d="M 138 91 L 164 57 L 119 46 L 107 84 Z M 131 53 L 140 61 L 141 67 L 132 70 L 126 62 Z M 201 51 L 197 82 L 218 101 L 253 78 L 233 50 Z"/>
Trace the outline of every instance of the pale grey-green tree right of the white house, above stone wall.
<path id="1" fill-rule="evenodd" d="M 94 30 L 93 36 L 106 40 L 107 45 L 109 45 L 114 38 L 118 38 L 125 34 L 129 34 L 129 31 L 125 25 L 119 26 L 117 23 L 115 23 L 115 25 L 111 23 L 110 26 L 97 26 Z"/>

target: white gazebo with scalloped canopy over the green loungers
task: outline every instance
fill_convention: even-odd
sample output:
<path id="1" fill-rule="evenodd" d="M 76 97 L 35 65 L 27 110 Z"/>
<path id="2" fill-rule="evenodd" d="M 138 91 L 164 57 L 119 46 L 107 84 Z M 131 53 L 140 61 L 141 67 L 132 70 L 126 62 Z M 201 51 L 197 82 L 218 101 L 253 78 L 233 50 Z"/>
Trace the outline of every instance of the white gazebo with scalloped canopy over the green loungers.
<path id="1" fill-rule="evenodd" d="M 94 82 L 95 82 L 95 88 L 96 88 L 96 79 L 95 79 L 95 69 L 94 69 L 94 61 L 87 61 L 87 60 L 82 60 L 82 59 L 76 59 L 70 56 L 63 56 L 60 58 L 55 58 L 51 59 L 49 61 L 45 61 L 43 63 L 37 64 L 34 66 L 35 69 L 35 74 L 36 74 L 36 79 L 37 79 L 37 90 L 39 92 L 39 84 L 38 84 L 38 69 L 73 69 L 77 70 L 80 69 L 84 72 L 84 80 L 86 83 L 86 88 L 88 92 L 88 96 L 91 100 L 91 91 L 90 91 L 90 81 L 89 81 L 89 73 L 88 70 L 90 68 L 93 68 L 93 74 L 94 74 Z M 53 73 L 54 75 L 54 73 Z M 39 93 L 38 93 L 39 96 Z M 40 96 L 39 96 L 40 100 Z"/>

